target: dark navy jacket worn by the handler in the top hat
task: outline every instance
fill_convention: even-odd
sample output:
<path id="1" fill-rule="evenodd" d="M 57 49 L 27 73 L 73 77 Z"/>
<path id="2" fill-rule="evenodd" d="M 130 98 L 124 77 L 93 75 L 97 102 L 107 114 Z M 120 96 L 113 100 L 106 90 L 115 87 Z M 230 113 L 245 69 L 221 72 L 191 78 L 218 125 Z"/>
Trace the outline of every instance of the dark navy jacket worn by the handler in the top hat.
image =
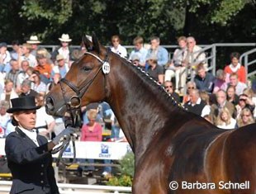
<path id="1" fill-rule="evenodd" d="M 7 135 L 5 152 L 12 172 L 11 194 L 59 194 L 48 152 L 48 141 L 37 135 L 39 147 L 18 127 Z"/>

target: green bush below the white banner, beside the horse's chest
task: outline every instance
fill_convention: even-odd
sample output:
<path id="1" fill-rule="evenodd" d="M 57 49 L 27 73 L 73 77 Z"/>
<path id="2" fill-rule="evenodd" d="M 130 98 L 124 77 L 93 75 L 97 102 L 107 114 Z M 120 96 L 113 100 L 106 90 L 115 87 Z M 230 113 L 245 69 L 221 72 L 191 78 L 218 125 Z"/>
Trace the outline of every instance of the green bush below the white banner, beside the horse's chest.
<path id="1" fill-rule="evenodd" d="M 135 171 L 135 158 L 132 152 L 127 153 L 120 162 L 120 176 L 110 177 L 107 185 L 131 187 Z"/>

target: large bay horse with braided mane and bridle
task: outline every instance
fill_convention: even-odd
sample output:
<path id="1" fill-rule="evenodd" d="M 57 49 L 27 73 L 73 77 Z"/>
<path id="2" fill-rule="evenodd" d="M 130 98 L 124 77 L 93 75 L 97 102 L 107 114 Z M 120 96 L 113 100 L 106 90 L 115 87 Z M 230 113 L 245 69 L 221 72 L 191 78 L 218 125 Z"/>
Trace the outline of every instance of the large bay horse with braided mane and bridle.
<path id="1" fill-rule="evenodd" d="M 88 49 L 46 97 L 50 115 L 108 102 L 135 153 L 135 194 L 256 193 L 256 125 L 220 130 L 178 106 L 126 59 L 83 37 Z"/>

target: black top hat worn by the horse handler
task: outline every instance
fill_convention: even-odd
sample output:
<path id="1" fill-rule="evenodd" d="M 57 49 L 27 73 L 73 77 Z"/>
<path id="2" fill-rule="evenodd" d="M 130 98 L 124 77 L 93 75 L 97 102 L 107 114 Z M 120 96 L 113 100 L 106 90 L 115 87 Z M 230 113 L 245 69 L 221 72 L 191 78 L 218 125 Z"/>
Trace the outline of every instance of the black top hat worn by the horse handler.
<path id="1" fill-rule="evenodd" d="M 8 113 L 36 110 L 40 108 L 40 106 L 36 106 L 35 97 L 17 97 L 11 99 L 11 102 L 12 107 L 7 109 Z"/>

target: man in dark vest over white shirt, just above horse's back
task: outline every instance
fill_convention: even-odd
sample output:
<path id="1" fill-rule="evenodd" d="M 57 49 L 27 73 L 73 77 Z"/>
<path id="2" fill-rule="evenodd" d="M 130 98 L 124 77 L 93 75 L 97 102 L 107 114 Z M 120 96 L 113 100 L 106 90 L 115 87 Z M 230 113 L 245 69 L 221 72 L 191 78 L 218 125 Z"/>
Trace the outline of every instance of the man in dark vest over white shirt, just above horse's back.
<path id="1" fill-rule="evenodd" d="M 204 109 L 207 109 L 208 106 L 206 106 L 206 102 L 201 100 L 201 97 L 199 95 L 199 91 L 197 89 L 192 89 L 189 92 L 190 101 L 186 102 L 184 107 L 187 109 L 187 111 L 190 111 L 197 116 L 201 116 L 202 112 L 208 112 Z"/>

